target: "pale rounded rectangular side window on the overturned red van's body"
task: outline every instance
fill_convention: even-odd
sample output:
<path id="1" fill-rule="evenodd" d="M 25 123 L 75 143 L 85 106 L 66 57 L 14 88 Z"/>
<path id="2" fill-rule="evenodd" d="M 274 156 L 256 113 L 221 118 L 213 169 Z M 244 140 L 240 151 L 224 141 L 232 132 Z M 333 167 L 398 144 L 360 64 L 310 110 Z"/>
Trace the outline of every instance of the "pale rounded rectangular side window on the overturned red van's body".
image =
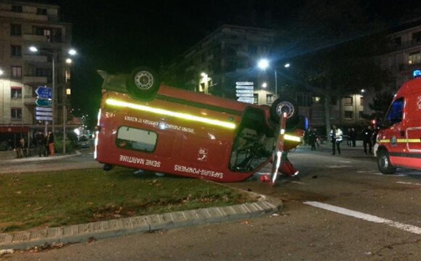
<path id="1" fill-rule="evenodd" d="M 117 133 L 116 145 L 123 149 L 138 150 L 141 152 L 153 152 L 158 136 L 152 131 L 140 128 L 121 126 Z"/>

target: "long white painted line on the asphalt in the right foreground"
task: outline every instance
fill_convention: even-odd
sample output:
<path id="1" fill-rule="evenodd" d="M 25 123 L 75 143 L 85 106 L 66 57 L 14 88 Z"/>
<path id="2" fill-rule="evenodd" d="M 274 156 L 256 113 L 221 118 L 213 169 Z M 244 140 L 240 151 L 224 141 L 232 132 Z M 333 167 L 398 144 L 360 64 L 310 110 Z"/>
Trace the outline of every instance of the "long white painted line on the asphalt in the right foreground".
<path id="1" fill-rule="evenodd" d="M 321 202 L 317 202 L 317 201 L 305 201 L 303 202 L 307 205 L 310 206 L 314 206 L 316 208 L 322 208 L 325 210 L 329 210 L 335 213 L 340 213 L 342 215 L 348 215 L 350 217 L 356 217 L 359 218 L 361 220 L 366 220 L 369 222 L 374 222 L 374 223 L 380 223 L 380 224 L 385 224 L 385 225 L 389 225 L 390 227 L 394 227 L 397 229 L 401 229 L 403 231 L 406 232 L 410 232 L 413 234 L 421 234 L 421 227 L 415 227 L 413 225 L 407 225 L 407 224 L 403 224 L 401 222 L 395 222 L 393 220 L 387 220 L 385 218 L 382 217 L 376 217 L 375 215 L 369 215 L 366 213 L 361 213 L 358 211 L 354 211 L 354 210 L 349 210 L 347 208 L 340 208 L 337 206 L 333 206 L 333 205 L 329 205 L 326 203 L 321 203 Z"/>

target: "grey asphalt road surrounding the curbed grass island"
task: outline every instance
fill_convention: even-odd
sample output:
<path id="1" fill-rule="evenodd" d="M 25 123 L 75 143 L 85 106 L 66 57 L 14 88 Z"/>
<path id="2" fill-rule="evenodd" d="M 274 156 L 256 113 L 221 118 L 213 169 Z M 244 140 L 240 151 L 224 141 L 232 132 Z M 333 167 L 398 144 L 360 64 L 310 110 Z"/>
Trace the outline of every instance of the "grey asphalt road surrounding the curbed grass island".
<path id="1" fill-rule="evenodd" d="M 361 150 L 289 155 L 299 178 L 229 184 L 282 199 L 279 215 L 157 231 L 0 260 L 421 260 L 421 173 L 380 175 Z M 265 170 L 262 170 L 265 171 Z M 328 208 L 328 210 L 326 210 Z"/>

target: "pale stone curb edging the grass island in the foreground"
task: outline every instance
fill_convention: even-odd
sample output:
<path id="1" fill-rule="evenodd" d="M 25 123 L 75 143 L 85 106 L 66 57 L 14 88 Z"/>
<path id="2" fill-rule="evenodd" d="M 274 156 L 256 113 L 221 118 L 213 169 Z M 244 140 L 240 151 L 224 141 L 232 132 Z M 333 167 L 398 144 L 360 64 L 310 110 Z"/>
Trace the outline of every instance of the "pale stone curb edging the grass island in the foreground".
<path id="1" fill-rule="evenodd" d="M 198 210 L 143 215 L 82 225 L 52 227 L 34 231 L 0 234 L 0 249 L 25 250 L 53 243 L 79 243 L 90 239 L 105 239 L 128 234 L 147 233 L 159 229 L 174 229 L 228 220 L 241 220 L 272 215 L 282 210 L 279 201 L 258 201 L 234 206 L 201 208 Z"/>

